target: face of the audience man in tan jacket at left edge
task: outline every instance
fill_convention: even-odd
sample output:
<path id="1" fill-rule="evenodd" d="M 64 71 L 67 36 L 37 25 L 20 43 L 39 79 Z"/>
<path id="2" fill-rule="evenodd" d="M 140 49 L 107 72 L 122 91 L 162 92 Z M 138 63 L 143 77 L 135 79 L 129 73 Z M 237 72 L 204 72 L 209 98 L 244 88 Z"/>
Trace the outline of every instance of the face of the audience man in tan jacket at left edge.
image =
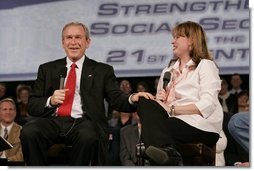
<path id="1" fill-rule="evenodd" d="M 2 102 L 0 104 L 0 120 L 3 123 L 12 123 L 16 117 L 16 108 L 11 102 Z"/>

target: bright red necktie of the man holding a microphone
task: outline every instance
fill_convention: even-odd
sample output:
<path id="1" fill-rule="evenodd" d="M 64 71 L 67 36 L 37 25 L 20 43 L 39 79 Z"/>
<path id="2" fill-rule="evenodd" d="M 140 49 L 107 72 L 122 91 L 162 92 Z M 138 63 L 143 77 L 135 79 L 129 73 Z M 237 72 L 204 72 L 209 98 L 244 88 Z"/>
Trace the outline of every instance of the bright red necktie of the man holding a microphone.
<path id="1" fill-rule="evenodd" d="M 58 108 L 58 116 L 70 116 L 71 115 L 71 109 L 72 109 L 72 103 L 74 99 L 75 94 L 75 86 L 76 86 L 76 64 L 73 63 L 71 65 L 71 70 L 69 72 L 65 89 L 69 89 L 69 91 L 65 92 L 65 99 L 63 104 Z"/>

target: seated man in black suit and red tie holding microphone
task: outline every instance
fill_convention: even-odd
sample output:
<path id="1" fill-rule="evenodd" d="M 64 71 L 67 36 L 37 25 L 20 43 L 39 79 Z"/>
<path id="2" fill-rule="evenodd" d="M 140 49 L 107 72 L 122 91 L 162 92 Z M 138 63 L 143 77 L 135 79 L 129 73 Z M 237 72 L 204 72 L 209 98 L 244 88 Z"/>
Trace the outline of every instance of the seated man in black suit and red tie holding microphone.
<path id="1" fill-rule="evenodd" d="M 104 99 L 116 110 L 132 112 L 135 108 L 130 103 L 137 102 L 140 96 L 153 98 L 148 93 L 132 96 L 122 93 L 113 67 L 85 55 L 89 45 L 87 27 L 82 23 L 68 23 L 62 31 L 62 46 L 67 57 L 40 65 L 29 99 L 29 114 L 35 119 L 25 124 L 21 132 L 27 165 L 47 165 L 46 151 L 57 142 L 71 145 L 70 165 L 106 165 L 108 137 Z M 71 66 L 74 67 L 71 69 Z M 65 67 L 65 82 L 71 75 L 70 70 L 75 70 L 76 81 L 72 81 L 76 83 L 75 90 L 59 88 Z M 71 112 L 62 116 L 60 108 L 70 99 L 68 92 L 73 91 Z"/>

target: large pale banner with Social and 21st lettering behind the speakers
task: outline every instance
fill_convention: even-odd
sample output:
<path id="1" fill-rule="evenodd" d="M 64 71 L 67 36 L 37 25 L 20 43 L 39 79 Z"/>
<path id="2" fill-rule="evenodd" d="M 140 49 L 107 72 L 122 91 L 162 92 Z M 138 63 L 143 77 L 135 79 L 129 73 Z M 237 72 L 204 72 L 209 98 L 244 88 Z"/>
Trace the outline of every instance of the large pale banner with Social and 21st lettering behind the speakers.
<path id="1" fill-rule="evenodd" d="M 0 81 L 33 80 L 40 64 L 64 57 L 61 31 L 70 21 L 89 27 L 92 43 L 86 55 L 112 65 L 118 77 L 159 76 L 173 56 L 171 30 L 187 20 L 206 30 L 220 74 L 248 74 L 248 2 L 3 0 Z"/>

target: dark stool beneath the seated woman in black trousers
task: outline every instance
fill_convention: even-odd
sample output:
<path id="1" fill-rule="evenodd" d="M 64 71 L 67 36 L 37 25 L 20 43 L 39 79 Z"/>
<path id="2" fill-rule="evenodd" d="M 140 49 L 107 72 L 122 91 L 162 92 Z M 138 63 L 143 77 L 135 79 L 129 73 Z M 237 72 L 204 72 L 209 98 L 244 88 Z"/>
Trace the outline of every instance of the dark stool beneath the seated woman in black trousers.
<path id="1" fill-rule="evenodd" d="M 216 146 L 191 143 L 179 144 L 176 149 L 182 155 L 184 166 L 215 166 Z"/>

